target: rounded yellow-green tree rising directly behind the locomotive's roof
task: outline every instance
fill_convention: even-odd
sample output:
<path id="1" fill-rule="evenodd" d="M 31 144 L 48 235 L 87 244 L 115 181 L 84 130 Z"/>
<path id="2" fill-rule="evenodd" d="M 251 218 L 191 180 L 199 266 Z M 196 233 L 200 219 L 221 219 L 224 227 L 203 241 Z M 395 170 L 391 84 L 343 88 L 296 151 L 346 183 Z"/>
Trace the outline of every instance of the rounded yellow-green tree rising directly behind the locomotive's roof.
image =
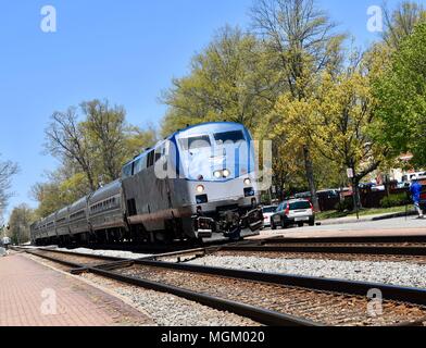
<path id="1" fill-rule="evenodd" d="M 162 134 L 210 121 L 242 123 L 253 129 L 274 105 L 278 72 L 270 52 L 252 35 L 225 27 L 191 62 L 188 76 L 164 92 L 170 107 Z"/>

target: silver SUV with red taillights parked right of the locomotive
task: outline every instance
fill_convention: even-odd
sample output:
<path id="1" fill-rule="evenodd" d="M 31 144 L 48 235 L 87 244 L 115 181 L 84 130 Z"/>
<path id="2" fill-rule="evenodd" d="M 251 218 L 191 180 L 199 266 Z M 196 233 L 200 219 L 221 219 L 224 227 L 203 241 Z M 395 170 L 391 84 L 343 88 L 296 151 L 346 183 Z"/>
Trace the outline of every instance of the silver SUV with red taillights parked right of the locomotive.
<path id="1" fill-rule="evenodd" d="M 315 212 L 312 203 L 305 199 L 288 200 L 279 204 L 276 213 L 271 217 L 271 228 L 278 226 L 287 228 L 291 225 L 315 225 Z"/>

